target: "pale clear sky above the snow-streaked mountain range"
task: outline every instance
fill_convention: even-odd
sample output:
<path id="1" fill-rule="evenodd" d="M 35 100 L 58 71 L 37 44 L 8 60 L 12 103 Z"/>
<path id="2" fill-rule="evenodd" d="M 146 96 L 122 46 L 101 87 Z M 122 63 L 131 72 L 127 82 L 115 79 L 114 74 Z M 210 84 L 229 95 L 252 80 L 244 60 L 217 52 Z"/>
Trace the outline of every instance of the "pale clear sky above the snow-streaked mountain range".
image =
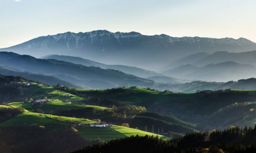
<path id="1" fill-rule="evenodd" d="M 255 8 L 256 0 L 0 0 L 0 48 L 99 29 L 256 42 Z"/>

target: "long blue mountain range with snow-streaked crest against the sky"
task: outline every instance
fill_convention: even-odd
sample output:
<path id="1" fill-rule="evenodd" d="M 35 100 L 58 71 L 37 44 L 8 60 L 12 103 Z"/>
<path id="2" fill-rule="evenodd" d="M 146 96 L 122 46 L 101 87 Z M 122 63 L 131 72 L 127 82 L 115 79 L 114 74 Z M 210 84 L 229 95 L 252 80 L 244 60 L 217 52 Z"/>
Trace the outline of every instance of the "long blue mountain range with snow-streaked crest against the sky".
<path id="1" fill-rule="evenodd" d="M 50 54 L 79 56 L 106 64 L 158 70 L 171 61 L 194 53 L 250 50 L 256 50 L 256 43 L 245 38 L 171 37 L 97 30 L 42 36 L 0 51 L 35 57 Z"/>

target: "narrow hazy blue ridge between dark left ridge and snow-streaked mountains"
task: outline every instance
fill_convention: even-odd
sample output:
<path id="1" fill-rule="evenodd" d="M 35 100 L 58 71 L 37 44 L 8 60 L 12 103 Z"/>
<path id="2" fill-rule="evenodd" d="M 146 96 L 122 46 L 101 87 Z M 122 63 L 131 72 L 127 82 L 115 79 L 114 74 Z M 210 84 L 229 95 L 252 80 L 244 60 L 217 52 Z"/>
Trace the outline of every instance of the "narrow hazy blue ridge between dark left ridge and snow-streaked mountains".
<path id="1" fill-rule="evenodd" d="M 102 63 L 98 63 L 95 61 L 87 60 L 87 59 L 80 58 L 80 57 L 74 57 L 74 56 L 49 55 L 49 56 L 45 56 L 42 58 L 67 61 L 70 63 L 81 64 L 84 66 L 95 66 L 95 67 L 100 67 L 102 69 L 115 69 L 115 70 L 122 71 L 127 74 L 132 74 L 134 76 L 138 76 L 138 77 L 151 77 L 151 76 L 162 75 L 162 74 L 158 74 L 154 71 L 149 71 L 149 70 L 145 70 L 145 69 L 141 69 L 141 68 L 137 68 L 137 67 L 125 66 L 125 65 L 107 65 L 107 64 L 102 64 Z"/>

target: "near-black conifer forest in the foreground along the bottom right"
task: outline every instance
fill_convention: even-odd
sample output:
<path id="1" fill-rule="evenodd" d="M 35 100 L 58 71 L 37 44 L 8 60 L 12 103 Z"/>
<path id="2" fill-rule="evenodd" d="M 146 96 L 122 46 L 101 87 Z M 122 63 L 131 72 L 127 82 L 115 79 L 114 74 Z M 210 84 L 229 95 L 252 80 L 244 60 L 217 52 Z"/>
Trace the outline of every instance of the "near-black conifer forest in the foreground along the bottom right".
<path id="1" fill-rule="evenodd" d="M 173 140 L 133 136 L 84 147 L 72 153 L 256 153 L 256 127 L 230 127 L 212 132 L 192 132 Z"/>

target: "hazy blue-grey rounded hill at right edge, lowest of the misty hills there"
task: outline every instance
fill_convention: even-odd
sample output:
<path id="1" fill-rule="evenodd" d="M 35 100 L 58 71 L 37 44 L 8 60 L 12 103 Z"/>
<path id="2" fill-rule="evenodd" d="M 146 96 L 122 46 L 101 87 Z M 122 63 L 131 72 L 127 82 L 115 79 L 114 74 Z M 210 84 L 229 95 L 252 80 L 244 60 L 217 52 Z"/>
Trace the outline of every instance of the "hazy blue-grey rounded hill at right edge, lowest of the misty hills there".
<path id="1" fill-rule="evenodd" d="M 179 77 L 180 79 L 227 82 L 255 77 L 256 67 L 232 61 L 208 64 L 203 67 L 187 64 L 165 71 L 164 74 L 170 77 Z"/>

